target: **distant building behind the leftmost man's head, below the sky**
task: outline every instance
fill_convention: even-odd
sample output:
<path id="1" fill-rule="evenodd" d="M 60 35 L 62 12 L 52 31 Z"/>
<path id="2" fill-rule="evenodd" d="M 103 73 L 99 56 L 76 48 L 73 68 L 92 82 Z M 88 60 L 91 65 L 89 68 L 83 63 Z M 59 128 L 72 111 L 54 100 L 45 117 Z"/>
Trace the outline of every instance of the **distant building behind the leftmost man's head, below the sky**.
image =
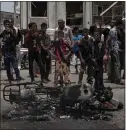
<path id="1" fill-rule="evenodd" d="M 5 19 L 14 19 L 14 13 L 0 11 L 0 32 L 4 29 L 3 21 Z M 20 28 L 20 14 L 16 14 L 15 26 Z"/>

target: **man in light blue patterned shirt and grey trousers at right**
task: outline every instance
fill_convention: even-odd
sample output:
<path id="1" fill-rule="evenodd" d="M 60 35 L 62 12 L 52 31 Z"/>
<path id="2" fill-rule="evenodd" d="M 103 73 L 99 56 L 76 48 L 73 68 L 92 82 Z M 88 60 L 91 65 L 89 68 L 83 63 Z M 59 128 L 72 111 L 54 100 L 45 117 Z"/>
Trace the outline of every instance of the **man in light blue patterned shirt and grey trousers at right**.
<path id="1" fill-rule="evenodd" d="M 120 57 L 117 30 L 122 25 L 122 20 L 116 19 L 115 26 L 110 30 L 106 45 L 108 46 L 109 55 L 111 55 L 111 82 L 122 84 L 120 74 Z M 110 43 L 108 43 L 110 41 Z"/>

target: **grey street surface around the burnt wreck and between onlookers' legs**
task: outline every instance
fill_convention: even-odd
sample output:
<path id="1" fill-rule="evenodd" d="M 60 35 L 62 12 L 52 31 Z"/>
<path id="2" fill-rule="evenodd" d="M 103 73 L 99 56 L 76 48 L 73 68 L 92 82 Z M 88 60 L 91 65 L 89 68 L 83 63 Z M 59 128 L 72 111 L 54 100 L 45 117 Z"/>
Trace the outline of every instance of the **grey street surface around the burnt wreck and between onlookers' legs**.
<path id="1" fill-rule="evenodd" d="M 71 74 L 70 79 L 71 81 L 77 82 L 78 81 L 78 74 L 74 74 L 75 69 L 71 66 Z M 52 67 L 52 73 L 50 74 L 51 82 L 47 84 L 47 86 L 53 87 L 53 79 L 54 79 L 54 66 Z M 28 77 L 29 73 L 28 70 L 21 70 L 21 76 L 25 79 L 21 82 L 30 81 Z M 86 82 L 86 74 L 84 75 L 83 82 Z M 104 81 L 107 78 L 107 75 L 104 74 Z M 2 95 L 2 89 L 5 84 L 8 84 L 6 80 L 6 73 L 5 71 L 1 71 L 1 112 L 7 111 L 9 109 L 13 109 L 14 105 L 11 105 L 9 102 L 4 101 Z M 36 81 L 40 80 L 40 78 L 36 78 Z M 118 99 L 122 103 L 124 102 L 124 85 L 116 85 L 111 83 L 105 83 L 105 86 L 110 86 L 113 88 L 114 98 Z M 125 109 L 125 108 L 124 108 Z M 124 129 L 125 128 L 125 113 L 123 110 L 114 111 L 113 119 L 111 121 L 84 121 L 84 120 L 73 120 L 73 119 L 63 119 L 60 121 L 52 121 L 52 122 L 26 122 L 26 121 L 1 121 L 1 128 L 2 129 Z"/>

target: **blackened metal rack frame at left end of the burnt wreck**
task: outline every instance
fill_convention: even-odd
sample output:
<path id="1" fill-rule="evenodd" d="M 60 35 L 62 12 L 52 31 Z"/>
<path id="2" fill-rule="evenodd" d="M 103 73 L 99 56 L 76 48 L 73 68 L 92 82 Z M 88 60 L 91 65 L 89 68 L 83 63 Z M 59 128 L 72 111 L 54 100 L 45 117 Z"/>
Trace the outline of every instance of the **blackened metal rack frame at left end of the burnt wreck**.
<path id="1" fill-rule="evenodd" d="M 67 84 L 70 85 L 70 84 Z M 24 83 L 15 83 L 15 84 L 8 84 L 3 88 L 3 98 L 5 101 L 13 102 L 17 104 L 21 104 L 21 102 L 25 102 L 29 99 L 22 99 L 21 98 L 21 91 L 22 89 L 35 89 L 36 95 L 47 95 L 47 97 L 59 97 L 62 92 L 63 86 L 58 87 L 48 87 L 42 86 L 40 82 L 24 82 Z M 34 97 L 29 97 L 34 100 Z"/>

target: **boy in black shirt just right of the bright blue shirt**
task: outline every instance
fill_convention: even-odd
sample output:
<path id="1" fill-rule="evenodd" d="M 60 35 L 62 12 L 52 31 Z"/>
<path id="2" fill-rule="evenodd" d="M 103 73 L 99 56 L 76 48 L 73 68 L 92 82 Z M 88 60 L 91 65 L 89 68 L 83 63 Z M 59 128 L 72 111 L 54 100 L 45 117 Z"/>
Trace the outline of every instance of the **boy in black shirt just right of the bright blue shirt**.
<path id="1" fill-rule="evenodd" d="M 94 28 L 95 28 L 94 26 L 91 26 L 91 29 L 90 29 L 92 37 L 94 34 Z M 79 45 L 79 48 L 80 48 L 80 53 L 81 53 L 84 63 L 83 62 L 81 63 L 81 69 L 80 69 L 80 73 L 79 73 L 78 83 L 82 83 L 85 64 L 87 64 L 87 66 L 88 66 L 87 82 L 92 85 L 92 83 L 93 83 L 93 67 L 92 67 L 93 50 L 92 50 L 92 46 L 93 46 L 94 41 L 93 41 L 93 38 L 89 35 L 88 29 L 83 30 L 83 35 L 84 35 L 84 37 L 80 41 L 81 44 Z"/>

